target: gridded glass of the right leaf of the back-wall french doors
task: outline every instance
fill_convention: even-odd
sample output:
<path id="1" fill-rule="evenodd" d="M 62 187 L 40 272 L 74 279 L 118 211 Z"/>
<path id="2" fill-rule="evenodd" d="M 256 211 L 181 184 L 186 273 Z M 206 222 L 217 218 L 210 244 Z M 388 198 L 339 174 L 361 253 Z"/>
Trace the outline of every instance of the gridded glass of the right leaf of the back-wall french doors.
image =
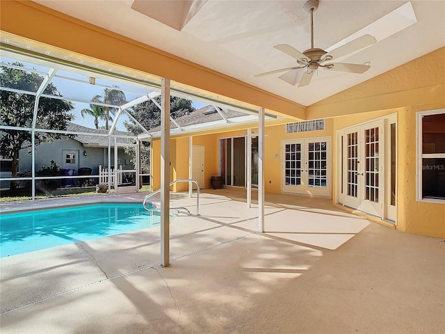
<path id="1" fill-rule="evenodd" d="M 324 188 L 327 186 L 326 175 L 326 142 L 313 142 L 307 145 L 309 186 Z"/>

